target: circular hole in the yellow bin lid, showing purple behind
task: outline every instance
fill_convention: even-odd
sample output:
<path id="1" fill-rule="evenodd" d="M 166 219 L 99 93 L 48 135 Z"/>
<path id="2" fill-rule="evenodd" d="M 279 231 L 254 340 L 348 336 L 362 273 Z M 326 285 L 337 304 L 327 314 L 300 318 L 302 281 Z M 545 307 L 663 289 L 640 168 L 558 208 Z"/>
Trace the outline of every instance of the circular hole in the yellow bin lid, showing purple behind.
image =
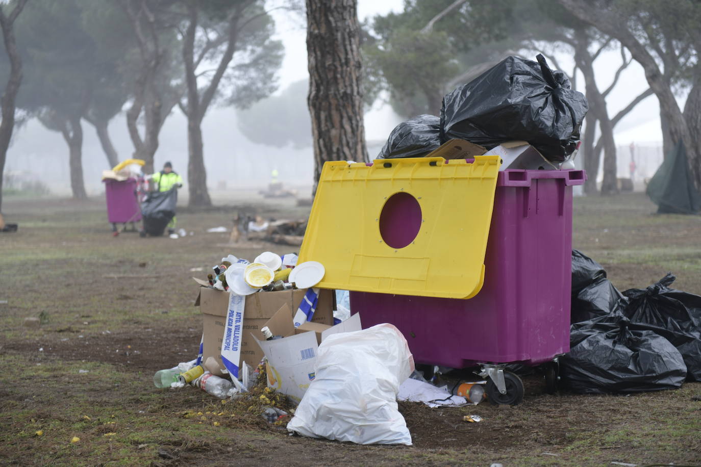
<path id="1" fill-rule="evenodd" d="M 380 213 L 380 235 L 388 246 L 404 248 L 421 228 L 421 205 L 409 193 L 390 196 Z"/>

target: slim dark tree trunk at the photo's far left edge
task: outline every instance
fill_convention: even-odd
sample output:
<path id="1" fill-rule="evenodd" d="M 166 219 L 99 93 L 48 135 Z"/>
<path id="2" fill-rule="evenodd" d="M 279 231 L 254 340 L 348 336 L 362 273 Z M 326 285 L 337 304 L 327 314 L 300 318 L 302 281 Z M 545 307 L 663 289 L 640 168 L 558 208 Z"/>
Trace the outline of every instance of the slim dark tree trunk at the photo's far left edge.
<path id="1" fill-rule="evenodd" d="M 10 59 L 10 76 L 5 85 L 4 92 L 0 97 L 0 107 L 2 116 L 0 118 L 0 212 L 2 211 L 2 181 L 5 173 L 5 160 L 7 150 L 10 147 L 12 132 L 15 129 L 15 98 L 20 92 L 22 84 L 22 59 L 17 50 L 15 41 L 15 20 L 25 8 L 27 0 L 19 0 L 15 3 L 15 8 L 8 16 L 5 15 L 4 6 L 0 5 L 0 28 L 2 29 L 5 51 Z"/>

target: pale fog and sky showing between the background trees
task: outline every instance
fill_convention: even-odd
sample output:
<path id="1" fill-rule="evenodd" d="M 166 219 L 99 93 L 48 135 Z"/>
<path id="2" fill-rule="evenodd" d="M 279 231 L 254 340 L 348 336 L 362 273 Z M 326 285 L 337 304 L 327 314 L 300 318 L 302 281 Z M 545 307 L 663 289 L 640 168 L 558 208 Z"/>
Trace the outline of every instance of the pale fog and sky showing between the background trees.
<path id="1" fill-rule="evenodd" d="M 373 2 L 358 1 L 361 20 L 376 14 L 399 11 L 402 0 Z M 280 90 L 302 78 L 308 77 L 306 69 L 306 32 L 304 18 L 297 15 L 275 13 L 277 34 L 285 44 L 285 58 L 278 72 Z M 524 50 L 526 56 L 536 55 L 535 51 Z M 573 61 L 566 51 L 551 53 L 557 62 L 571 71 Z M 603 53 L 596 62 L 597 82 L 601 88 L 608 87 L 615 70 L 620 65 L 618 50 Z M 611 115 L 625 107 L 640 92 L 647 88 L 643 71 L 637 62 L 624 71 L 615 92 L 607 99 Z M 578 79 L 578 90 L 583 90 L 583 78 Z M 236 109 L 213 106 L 203 120 L 203 141 L 207 186 L 210 190 L 254 188 L 264 186 L 270 179 L 272 169 L 278 169 L 279 179 L 287 186 L 302 189 L 311 186 L 313 179 L 312 148 L 276 148 L 254 144 L 242 134 L 236 123 Z M 271 115 L 270 118 L 275 118 Z M 306 107 L 299 109 L 299 118 L 309 118 Z M 374 157 L 392 128 L 400 123 L 390 106 L 381 99 L 374 104 L 365 116 L 365 132 L 368 152 Z M 160 169 L 170 161 L 176 172 L 187 180 L 187 134 L 186 118 L 175 107 L 165 120 L 159 136 L 159 147 L 155 155 L 154 167 Z M 124 113 L 111 121 L 109 132 L 118 151 L 120 160 L 132 156 L 133 147 L 128 136 Z M 100 147 L 94 128 L 83 121 L 83 176 L 88 195 L 102 192 L 101 173 L 109 169 L 107 158 Z M 270 135 L 271 139 L 275 134 Z M 625 148 L 631 143 L 651 148 L 646 172 L 654 172 L 662 157 L 654 148 L 661 146 L 659 106 L 655 97 L 648 97 L 628 114 L 615 128 L 616 143 L 622 151 L 620 157 L 629 158 Z M 653 157 L 652 154 L 655 154 Z M 625 161 L 619 162 L 619 173 L 625 172 Z M 58 132 L 46 130 L 37 120 L 30 120 L 15 130 L 13 144 L 8 151 L 6 173 L 20 172 L 22 179 L 39 179 L 47 183 L 53 193 L 69 195 L 68 148 Z"/>

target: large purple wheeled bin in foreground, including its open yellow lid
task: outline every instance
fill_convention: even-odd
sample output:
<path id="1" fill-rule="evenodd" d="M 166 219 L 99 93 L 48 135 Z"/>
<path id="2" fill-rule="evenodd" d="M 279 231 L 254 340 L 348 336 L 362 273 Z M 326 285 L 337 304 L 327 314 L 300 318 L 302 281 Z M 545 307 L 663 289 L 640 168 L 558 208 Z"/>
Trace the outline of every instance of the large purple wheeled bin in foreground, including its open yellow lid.
<path id="1" fill-rule="evenodd" d="M 379 170 L 361 176 L 348 166 L 341 176 L 343 167 L 329 167 L 299 260 L 324 263 L 329 276 L 345 258 L 350 265 L 319 286 L 350 290 L 351 310 L 360 313 L 363 328 L 397 326 L 416 363 L 480 365 L 480 375 L 489 377 L 489 400 L 514 404 L 524 389 L 519 377 L 505 370 L 507 363 L 544 364 L 552 386 L 557 357 L 569 351 L 572 186 L 586 176 L 582 170 L 499 172 L 498 162 L 489 167 L 491 157 L 477 156 L 472 164 L 436 160 L 433 167 L 442 168 L 434 172 L 421 172 L 431 158 L 391 162 L 401 167 L 376 160 L 374 166 L 385 166 L 390 180 L 377 193 L 372 187 Z M 355 196 L 361 214 L 338 205 L 341 197 L 335 195 L 344 192 Z M 382 192 L 378 210 L 372 198 Z M 359 239 L 341 235 L 329 241 L 319 235 L 325 217 L 343 222 L 325 205 L 327 193 L 351 216 L 349 225 L 360 224 L 364 231 L 353 232 Z M 397 197 L 408 202 L 388 210 Z M 339 231 L 343 228 L 351 227 L 339 225 Z"/>

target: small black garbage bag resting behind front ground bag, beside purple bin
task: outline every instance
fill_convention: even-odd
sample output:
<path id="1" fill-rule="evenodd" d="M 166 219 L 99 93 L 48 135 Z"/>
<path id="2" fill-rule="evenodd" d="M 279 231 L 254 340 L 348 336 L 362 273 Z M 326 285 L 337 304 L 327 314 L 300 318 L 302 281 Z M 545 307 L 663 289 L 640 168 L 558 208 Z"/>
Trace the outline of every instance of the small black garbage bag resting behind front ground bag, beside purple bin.
<path id="1" fill-rule="evenodd" d="M 606 277 L 599 277 L 572 297 L 570 322 L 581 323 L 612 314 L 627 305 L 627 299 Z"/>

